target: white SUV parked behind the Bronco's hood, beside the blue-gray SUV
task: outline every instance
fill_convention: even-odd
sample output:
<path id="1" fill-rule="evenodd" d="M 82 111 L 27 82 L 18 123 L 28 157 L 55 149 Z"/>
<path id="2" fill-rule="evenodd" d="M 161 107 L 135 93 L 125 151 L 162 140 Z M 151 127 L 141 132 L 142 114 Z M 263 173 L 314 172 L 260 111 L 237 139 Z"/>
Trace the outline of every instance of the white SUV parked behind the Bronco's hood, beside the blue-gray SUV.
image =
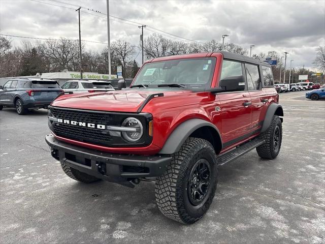
<path id="1" fill-rule="evenodd" d="M 64 92 L 93 93 L 114 90 L 111 82 L 99 80 L 68 80 L 61 85 Z"/>

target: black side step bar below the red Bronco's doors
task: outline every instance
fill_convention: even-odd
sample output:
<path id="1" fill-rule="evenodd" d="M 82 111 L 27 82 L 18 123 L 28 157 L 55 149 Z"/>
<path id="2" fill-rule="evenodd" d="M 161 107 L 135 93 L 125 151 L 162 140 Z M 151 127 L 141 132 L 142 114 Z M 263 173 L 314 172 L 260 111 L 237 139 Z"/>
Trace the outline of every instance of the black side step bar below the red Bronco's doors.
<path id="1" fill-rule="evenodd" d="M 248 153 L 248 151 L 256 148 L 257 146 L 260 146 L 265 143 L 264 139 L 253 139 L 248 142 L 245 142 L 239 146 L 237 146 L 235 149 L 227 151 L 226 153 L 223 153 L 217 157 L 218 165 L 224 165 L 225 163 L 229 163 L 240 156 Z"/>

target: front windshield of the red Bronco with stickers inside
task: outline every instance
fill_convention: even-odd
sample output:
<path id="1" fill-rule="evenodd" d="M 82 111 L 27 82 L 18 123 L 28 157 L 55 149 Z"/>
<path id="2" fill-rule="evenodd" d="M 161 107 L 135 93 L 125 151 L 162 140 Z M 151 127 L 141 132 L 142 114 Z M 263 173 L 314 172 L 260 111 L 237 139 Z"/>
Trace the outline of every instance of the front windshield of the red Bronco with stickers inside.
<path id="1" fill-rule="evenodd" d="M 187 88 L 211 87 L 215 63 L 215 57 L 148 63 L 143 66 L 132 86 L 157 87 L 158 85 L 182 84 Z"/>

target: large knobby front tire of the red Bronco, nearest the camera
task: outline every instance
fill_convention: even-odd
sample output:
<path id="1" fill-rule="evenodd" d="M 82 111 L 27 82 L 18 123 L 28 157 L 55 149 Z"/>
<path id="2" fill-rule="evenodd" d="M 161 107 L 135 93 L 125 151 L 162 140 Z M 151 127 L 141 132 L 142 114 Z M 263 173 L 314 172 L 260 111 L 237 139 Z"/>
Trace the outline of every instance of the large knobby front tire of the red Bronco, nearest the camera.
<path id="1" fill-rule="evenodd" d="M 188 195 L 189 178 L 194 166 L 206 160 L 210 167 L 208 190 L 199 205 Z M 155 198 L 159 210 L 168 218 L 184 224 L 200 220 L 210 207 L 217 187 L 218 166 L 213 146 L 200 138 L 189 137 L 167 167 L 164 175 L 156 178 Z"/>

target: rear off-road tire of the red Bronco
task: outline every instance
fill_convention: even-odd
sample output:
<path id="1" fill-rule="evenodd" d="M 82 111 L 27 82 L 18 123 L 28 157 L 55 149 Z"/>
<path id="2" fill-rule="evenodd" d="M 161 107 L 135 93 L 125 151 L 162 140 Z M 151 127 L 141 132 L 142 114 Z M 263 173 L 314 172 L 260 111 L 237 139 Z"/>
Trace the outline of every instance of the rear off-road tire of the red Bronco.
<path id="1" fill-rule="evenodd" d="M 279 138 L 277 142 L 277 147 L 275 145 L 275 130 L 279 130 Z M 263 159 L 275 159 L 281 149 L 282 143 L 282 123 L 281 119 L 277 115 L 273 115 L 271 125 L 267 131 L 261 133 L 260 137 L 265 140 L 265 143 L 261 146 L 256 147 L 256 151 L 259 157 Z"/>

